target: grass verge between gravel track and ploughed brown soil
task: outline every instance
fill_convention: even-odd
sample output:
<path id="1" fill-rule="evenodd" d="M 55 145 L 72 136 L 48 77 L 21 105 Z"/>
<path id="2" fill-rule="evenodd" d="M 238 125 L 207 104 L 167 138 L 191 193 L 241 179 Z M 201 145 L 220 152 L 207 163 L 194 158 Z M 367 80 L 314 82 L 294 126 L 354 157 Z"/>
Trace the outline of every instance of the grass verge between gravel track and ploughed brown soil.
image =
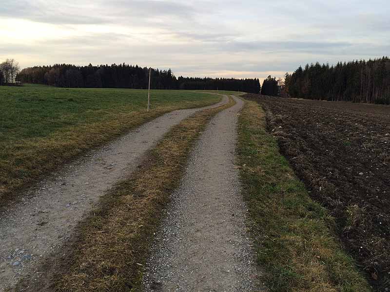
<path id="1" fill-rule="evenodd" d="M 277 292 L 371 291 L 334 237 L 334 221 L 313 202 L 265 129 L 259 105 L 239 117 L 238 158 L 258 265 Z"/>

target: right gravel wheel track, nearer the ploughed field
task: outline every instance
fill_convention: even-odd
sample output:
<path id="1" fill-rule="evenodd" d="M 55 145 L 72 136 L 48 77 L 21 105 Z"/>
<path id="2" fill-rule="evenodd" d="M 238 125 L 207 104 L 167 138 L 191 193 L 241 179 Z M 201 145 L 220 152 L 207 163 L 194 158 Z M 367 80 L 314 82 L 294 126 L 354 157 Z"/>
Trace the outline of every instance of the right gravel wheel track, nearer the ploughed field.
<path id="1" fill-rule="evenodd" d="M 234 167 L 237 104 L 220 112 L 192 151 L 147 260 L 146 291 L 259 291 Z"/>

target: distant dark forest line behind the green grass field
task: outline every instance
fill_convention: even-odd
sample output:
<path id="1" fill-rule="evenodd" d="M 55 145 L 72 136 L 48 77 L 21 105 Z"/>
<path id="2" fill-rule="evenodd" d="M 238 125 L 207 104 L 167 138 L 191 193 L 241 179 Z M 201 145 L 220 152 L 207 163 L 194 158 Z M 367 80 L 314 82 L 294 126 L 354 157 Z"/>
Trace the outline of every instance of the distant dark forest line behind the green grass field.
<path id="1" fill-rule="evenodd" d="M 149 69 L 138 65 L 112 64 L 75 66 L 56 64 L 23 69 L 17 77 L 23 83 L 58 87 L 87 88 L 148 88 Z M 152 69 L 152 89 L 228 90 L 260 92 L 260 81 L 236 78 L 178 77 L 171 70 Z"/>

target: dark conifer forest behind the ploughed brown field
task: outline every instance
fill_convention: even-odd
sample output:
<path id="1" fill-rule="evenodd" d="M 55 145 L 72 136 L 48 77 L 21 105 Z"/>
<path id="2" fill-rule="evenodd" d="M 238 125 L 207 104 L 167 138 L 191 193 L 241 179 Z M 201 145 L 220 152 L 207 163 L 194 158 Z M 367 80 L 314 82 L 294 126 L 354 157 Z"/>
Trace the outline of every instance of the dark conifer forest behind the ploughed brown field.
<path id="1" fill-rule="evenodd" d="M 285 75 L 282 96 L 390 104 L 390 59 L 307 64 Z"/>

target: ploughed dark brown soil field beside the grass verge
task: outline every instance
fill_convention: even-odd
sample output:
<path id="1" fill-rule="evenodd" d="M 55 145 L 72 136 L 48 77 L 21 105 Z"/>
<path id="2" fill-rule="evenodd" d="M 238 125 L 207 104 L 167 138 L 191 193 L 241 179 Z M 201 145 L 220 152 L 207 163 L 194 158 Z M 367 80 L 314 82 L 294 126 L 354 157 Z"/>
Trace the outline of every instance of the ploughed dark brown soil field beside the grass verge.
<path id="1" fill-rule="evenodd" d="M 378 291 L 390 287 L 390 107 L 247 94 L 342 243 Z"/>

